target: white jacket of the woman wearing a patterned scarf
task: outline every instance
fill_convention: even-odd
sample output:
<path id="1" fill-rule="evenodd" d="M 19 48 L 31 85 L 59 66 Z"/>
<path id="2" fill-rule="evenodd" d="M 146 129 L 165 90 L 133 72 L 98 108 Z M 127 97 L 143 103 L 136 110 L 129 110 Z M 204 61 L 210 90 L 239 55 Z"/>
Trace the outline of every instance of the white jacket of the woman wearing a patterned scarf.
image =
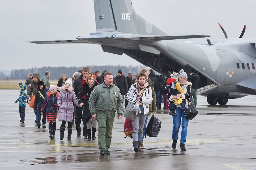
<path id="1" fill-rule="evenodd" d="M 130 103 L 136 103 L 138 97 L 138 91 L 136 89 L 136 85 L 132 85 L 126 95 L 126 100 Z M 141 103 L 143 104 L 144 114 L 149 113 L 149 104 L 152 103 L 152 90 L 151 87 L 148 85 L 141 96 Z"/>

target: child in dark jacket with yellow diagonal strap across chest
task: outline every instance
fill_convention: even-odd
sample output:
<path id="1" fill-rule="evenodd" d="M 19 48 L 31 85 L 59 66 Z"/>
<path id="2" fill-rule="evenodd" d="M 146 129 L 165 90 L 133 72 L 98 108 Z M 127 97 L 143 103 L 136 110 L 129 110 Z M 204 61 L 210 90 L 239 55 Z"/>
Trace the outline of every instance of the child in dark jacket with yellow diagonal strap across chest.
<path id="1" fill-rule="evenodd" d="M 35 101 L 34 101 L 34 111 L 37 111 L 37 127 L 40 128 L 41 127 L 41 108 L 43 105 L 43 101 L 47 96 L 47 91 L 48 89 L 46 88 L 46 85 L 44 85 L 44 83 L 42 81 L 38 82 L 38 88 L 37 88 L 37 92 L 36 92 L 36 96 L 35 96 Z M 46 113 L 43 112 L 43 127 L 45 128 L 46 125 Z"/>

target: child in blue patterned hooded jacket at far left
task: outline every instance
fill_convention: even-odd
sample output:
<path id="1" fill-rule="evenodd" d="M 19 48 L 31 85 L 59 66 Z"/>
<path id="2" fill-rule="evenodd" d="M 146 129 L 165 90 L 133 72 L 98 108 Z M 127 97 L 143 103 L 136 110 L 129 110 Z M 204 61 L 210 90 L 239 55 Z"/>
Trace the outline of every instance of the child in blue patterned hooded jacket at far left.
<path id="1" fill-rule="evenodd" d="M 15 103 L 19 102 L 19 112 L 20 112 L 20 117 L 21 120 L 20 122 L 24 123 L 25 121 L 25 111 L 26 111 L 26 104 L 27 104 L 27 93 L 25 92 L 26 90 L 26 85 L 20 85 L 20 96 L 19 98 L 15 101 Z"/>

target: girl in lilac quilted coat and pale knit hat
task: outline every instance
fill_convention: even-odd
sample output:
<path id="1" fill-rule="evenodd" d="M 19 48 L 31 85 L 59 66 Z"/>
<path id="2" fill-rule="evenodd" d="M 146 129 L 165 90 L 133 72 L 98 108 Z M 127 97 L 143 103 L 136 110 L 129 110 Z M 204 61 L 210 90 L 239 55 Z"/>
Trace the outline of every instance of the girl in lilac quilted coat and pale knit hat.
<path id="1" fill-rule="evenodd" d="M 59 107 L 59 121 L 62 121 L 60 126 L 60 140 L 64 138 L 64 131 L 66 123 L 68 122 L 68 140 L 71 140 L 72 134 L 72 120 L 74 105 L 79 107 L 77 97 L 72 87 L 72 79 L 66 80 L 65 85 L 59 88 L 58 107 Z"/>

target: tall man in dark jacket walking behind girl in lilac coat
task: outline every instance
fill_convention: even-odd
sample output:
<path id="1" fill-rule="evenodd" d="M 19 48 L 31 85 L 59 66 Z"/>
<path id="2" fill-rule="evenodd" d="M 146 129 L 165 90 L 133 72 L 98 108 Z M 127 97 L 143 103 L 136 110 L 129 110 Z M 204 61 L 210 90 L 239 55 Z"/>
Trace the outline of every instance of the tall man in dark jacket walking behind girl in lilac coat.
<path id="1" fill-rule="evenodd" d="M 89 68 L 84 67 L 82 69 L 82 75 L 80 75 L 78 78 L 74 80 L 73 83 L 73 88 L 76 96 L 79 95 L 80 91 L 82 90 L 83 84 L 86 83 L 86 77 L 89 74 Z M 86 95 L 82 97 L 83 100 L 86 99 Z M 75 112 L 75 126 L 76 126 L 76 136 L 81 137 L 81 120 L 82 120 L 82 111 L 84 107 L 76 107 L 76 112 Z M 83 127 L 83 136 L 84 139 L 88 139 L 88 134 L 87 134 L 87 128 L 86 128 L 86 122 L 83 122 L 84 127 Z"/>

